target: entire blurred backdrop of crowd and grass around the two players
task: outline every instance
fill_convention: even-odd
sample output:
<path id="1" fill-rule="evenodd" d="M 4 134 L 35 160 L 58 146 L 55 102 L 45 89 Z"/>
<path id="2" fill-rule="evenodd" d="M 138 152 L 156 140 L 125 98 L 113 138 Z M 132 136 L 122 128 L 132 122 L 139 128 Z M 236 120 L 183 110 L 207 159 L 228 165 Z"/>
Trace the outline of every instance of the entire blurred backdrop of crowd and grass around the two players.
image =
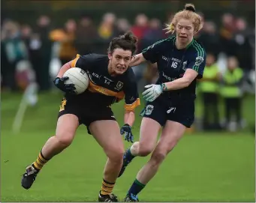
<path id="1" fill-rule="evenodd" d="M 71 147 L 44 166 L 29 193 L 20 187 L 25 167 L 55 132 L 63 94 L 53 79 L 77 53 L 107 54 L 110 40 L 125 31 L 139 38 L 137 52 L 170 37 L 164 24 L 185 3 L 193 3 L 203 17 L 203 29 L 195 38 L 207 52 L 197 86 L 196 118 L 140 200 L 255 201 L 255 1 L 2 0 L 2 202 L 96 201 L 106 157 L 84 126 Z M 156 68 L 133 67 L 140 92 L 158 78 Z M 145 103 L 141 101 L 135 140 Z M 113 105 L 120 126 L 123 105 Z M 129 145 L 125 142 L 125 148 Z M 120 199 L 147 159 L 135 159 L 118 180 L 114 193 Z"/>

